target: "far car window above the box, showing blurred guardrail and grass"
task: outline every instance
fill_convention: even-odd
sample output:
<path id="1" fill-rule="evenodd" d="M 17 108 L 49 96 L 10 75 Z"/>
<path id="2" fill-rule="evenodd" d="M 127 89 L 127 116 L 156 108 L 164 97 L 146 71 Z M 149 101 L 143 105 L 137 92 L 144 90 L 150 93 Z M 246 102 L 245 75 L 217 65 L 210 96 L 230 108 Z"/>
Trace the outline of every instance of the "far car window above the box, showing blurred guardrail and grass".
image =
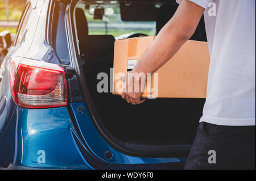
<path id="1" fill-rule="evenodd" d="M 85 12 L 89 35 L 113 35 L 117 37 L 131 32 L 139 32 L 146 35 L 155 35 L 156 33 L 155 21 L 122 21 L 119 4 L 101 5 L 101 8 L 105 9 L 105 15 L 103 15 L 102 19 L 94 19 L 93 12 L 99 8 L 99 5 L 80 3 L 77 7 Z"/>

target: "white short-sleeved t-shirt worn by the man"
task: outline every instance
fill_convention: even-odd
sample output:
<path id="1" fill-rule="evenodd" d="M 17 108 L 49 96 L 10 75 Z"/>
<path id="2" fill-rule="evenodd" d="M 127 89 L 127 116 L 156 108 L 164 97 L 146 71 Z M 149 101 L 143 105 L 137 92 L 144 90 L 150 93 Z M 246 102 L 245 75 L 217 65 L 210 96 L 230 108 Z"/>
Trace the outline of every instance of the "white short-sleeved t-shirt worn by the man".
<path id="1" fill-rule="evenodd" d="M 255 125 L 255 0 L 188 1 L 205 9 L 210 52 L 200 122 Z"/>

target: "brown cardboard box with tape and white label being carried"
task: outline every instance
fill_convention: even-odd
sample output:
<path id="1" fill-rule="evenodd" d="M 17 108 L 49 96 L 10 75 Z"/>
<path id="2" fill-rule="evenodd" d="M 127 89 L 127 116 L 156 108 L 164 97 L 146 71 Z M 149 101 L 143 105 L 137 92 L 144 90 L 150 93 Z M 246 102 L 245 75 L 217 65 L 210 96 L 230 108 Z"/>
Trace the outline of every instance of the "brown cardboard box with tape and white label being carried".
<path id="1" fill-rule="evenodd" d="M 142 36 L 115 41 L 113 94 L 122 92 L 119 75 L 133 69 L 154 39 L 155 36 Z M 171 60 L 156 71 L 158 76 L 154 73 L 147 79 L 148 89 L 142 97 L 205 98 L 209 64 L 207 42 L 188 40 Z"/>

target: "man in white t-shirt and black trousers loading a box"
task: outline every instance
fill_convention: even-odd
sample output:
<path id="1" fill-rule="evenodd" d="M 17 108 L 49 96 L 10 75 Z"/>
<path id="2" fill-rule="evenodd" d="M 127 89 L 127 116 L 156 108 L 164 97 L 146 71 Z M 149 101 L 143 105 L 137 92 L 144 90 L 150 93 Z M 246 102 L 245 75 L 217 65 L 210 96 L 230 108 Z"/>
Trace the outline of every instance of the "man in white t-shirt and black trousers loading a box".
<path id="1" fill-rule="evenodd" d="M 195 32 L 204 13 L 207 99 L 185 169 L 255 169 L 255 1 L 177 0 L 175 15 L 130 73 L 154 73 Z M 126 90 L 133 80 L 123 77 Z M 135 78 L 137 83 L 141 79 Z M 144 87 L 140 87 L 140 91 Z M 140 104 L 141 92 L 123 92 Z"/>

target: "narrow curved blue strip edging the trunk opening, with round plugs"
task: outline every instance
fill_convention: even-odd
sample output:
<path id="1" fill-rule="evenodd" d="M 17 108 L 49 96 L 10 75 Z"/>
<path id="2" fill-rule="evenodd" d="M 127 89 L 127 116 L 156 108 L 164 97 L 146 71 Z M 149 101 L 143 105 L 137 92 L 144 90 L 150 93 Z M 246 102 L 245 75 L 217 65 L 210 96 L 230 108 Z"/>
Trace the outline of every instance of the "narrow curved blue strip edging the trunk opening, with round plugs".
<path id="1" fill-rule="evenodd" d="M 184 162 L 184 158 L 140 158 L 131 157 L 115 150 L 110 146 L 98 133 L 92 120 L 90 119 L 89 113 L 85 108 L 84 103 L 72 103 L 73 112 L 75 112 L 75 118 L 79 126 L 79 130 L 82 133 L 82 137 L 85 140 L 86 146 L 96 155 L 99 159 L 109 163 L 118 164 L 151 164 L 151 163 L 170 163 L 170 162 Z M 83 107 L 84 111 L 77 111 L 78 107 Z M 111 159 L 105 158 L 105 151 L 111 151 L 113 157 Z"/>

